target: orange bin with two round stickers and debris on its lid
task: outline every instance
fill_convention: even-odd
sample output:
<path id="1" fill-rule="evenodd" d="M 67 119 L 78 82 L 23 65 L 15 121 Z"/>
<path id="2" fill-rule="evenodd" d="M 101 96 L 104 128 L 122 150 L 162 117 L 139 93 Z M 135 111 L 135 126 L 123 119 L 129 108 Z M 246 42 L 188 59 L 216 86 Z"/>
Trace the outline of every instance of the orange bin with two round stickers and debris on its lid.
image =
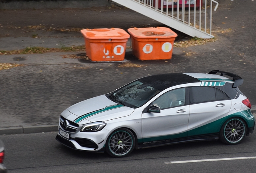
<path id="1" fill-rule="evenodd" d="M 178 35 L 169 28 L 129 28 L 132 54 L 140 60 L 171 59 L 173 42 Z"/>

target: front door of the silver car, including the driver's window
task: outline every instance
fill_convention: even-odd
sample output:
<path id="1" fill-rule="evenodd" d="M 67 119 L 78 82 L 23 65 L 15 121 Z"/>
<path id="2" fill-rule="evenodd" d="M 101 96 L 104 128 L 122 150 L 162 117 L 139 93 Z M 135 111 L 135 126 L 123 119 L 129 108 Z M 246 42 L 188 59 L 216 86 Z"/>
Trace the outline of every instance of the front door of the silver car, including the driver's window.
<path id="1" fill-rule="evenodd" d="M 186 89 L 168 91 L 151 105 L 160 113 L 142 114 L 142 142 L 164 142 L 187 137 L 190 107 L 185 102 Z"/>

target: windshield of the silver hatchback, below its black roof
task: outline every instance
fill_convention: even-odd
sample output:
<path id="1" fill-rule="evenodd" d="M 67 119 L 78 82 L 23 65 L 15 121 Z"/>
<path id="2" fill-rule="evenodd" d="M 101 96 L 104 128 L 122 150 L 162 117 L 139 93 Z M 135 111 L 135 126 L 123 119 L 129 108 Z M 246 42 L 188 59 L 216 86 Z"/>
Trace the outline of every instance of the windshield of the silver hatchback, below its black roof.
<path id="1" fill-rule="evenodd" d="M 160 90 L 150 86 L 147 82 L 136 80 L 124 87 L 106 95 L 111 101 L 127 107 L 138 108 L 157 95 Z"/>

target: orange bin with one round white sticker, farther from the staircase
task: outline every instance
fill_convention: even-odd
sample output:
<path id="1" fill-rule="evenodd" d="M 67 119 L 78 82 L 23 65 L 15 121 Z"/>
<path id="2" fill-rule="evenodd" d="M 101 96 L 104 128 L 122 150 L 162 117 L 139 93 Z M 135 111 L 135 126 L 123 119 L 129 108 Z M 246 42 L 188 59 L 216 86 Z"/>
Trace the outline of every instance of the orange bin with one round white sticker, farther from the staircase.
<path id="1" fill-rule="evenodd" d="M 84 29 L 85 50 L 92 61 L 124 60 L 130 35 L 119 28 Z"/>

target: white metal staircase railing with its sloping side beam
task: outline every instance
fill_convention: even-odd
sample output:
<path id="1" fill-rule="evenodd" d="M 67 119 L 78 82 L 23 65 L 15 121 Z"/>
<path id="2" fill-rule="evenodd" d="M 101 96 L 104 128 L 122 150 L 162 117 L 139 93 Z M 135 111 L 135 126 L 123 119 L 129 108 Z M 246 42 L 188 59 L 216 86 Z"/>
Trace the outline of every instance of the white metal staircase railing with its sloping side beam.
<path id="1" fill-rule="evenodd" d="M 134 8 L 137 12 L 154 18 L 153 14 L 150 14 L 145 8 L 136 8 L 134 4 L 138 6 L 145 6 L 151 11 L 160 13 L 162 18 L 157 15 L 154 19 L 162 22 L 172 28 L 179 30 L 190 36 L 197 36 L 201 38 L 212 38 L 212 12 L 213 2 L 216 3 L 214 11 L 217 10 L 219 5 L 215 0 L 113 0 L 114 2 L 120 3 L 128 8 Z M 129 3 L 130 1 L 130 3 Z M 134 3 L 136 2 L 136 3 Z M 133 3 L 133 4 L 131 4 Z M 130 5 L 131 4 L 131 5 Z M 129 7 L 130 6 L 130 7 Z M 152 13 L 152 12 L 151 12 Z M 148 15 L 147 15 L 148 14 Z M 167 18 L 170 22 L 165 22 Z M 163 19 L 164 18 L 164 19 Z M 178 22 L 174 22 L 174 20 Z M 186 26 L 186 29 L 184 28 Z M 207 28 L 208 27 L 208 28 Z M 191 30 L 191 31 L 189 31 Z M 195 31 L 197 30 L 197 31 Z M 198 34 L 198 31 L 201 34 Z M 204 33 L 204 34 L 202 34 Z"/>

